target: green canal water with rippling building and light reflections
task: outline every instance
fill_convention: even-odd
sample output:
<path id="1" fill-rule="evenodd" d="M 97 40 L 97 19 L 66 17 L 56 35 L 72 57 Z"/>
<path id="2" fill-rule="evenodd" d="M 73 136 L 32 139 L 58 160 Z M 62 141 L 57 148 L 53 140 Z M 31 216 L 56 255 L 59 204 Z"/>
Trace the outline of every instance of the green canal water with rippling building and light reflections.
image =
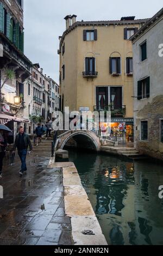
<path id="1" fill-rule="evenodd" d="M 69 151 L 109 245 L 163 245 L 163 167 Z"/>

